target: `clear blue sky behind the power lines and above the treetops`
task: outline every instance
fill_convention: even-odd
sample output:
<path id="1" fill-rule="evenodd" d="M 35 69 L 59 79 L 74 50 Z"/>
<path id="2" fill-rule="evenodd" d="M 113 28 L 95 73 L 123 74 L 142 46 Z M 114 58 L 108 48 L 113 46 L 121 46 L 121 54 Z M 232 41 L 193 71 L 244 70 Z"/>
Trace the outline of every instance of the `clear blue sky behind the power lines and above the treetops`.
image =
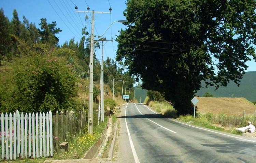
<path id="1" fill-rule="evenodd" d="M 34 22 L 39 28 L 40 18 L 46 18 L 48 23 L 52 21 L 57 22 L 57 27 L 62 30 L 59 37 L 59 44 L 69 41 L 74 37 L 75 41 L 80 41 L 82 22 L 84 23 L 85 13 L 75 13 L 75 5 L 78 10 L 85 11 L 87 4 L 90 11 L 103 11 L 109 12 L 111 6 L 111 14 L 95 14 L 95 29 L 94 34 L 102 35 L 103 32 L 109 27 L 111 22 L 116 20 L 124 20 L 123 12 L 126 8 L 125 0 L 1 0 L 0 7 L 3 8 L 5 16 L 12 19 L 14 8 L 18 12 L 20 21 L 23 21 L 23 15 L 29 20 Z M 87 3 L 87 4 L 86 4 Z M 53 9 L 53 7 L 54 9 Z M 58 13 L 56 13 L 56 12 Z M 80 16 L 80 17 L 79 17 Z M 90 14 L 88 14 L 90 17 Z M 81 19 L 80 19 L 81 18 Z M 82 22 L 81 22 L 82 20 Z M 91 24 L 90 19 L 86 21 L 87 31 L 90 33 Z M 122 23 L 114 23 L 111 28 L 104 34 L 108 40 L 116 38 L 118 30 L 125 29 Z M 116 56 L 117 42 L 105 42 L 104 45 L 104 59 L 106 57 L 114 58 Z M 100 60 L 101 49 L 96 51 L 96 56 Z M 254 60 L 246 62 L 247 71 L 256 71 L 256 62 Z"/>

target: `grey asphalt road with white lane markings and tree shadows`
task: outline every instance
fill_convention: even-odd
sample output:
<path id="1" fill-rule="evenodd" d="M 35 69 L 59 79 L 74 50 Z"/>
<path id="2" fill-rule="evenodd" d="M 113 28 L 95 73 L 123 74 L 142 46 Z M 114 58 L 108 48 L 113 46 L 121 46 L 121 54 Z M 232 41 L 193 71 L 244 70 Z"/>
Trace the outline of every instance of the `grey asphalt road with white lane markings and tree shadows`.
<path id="1" fill-rule="evenodd" d="M 120 116 L 120 163 L 255 163 L 256 138 L 167 119 L 128 103 Z"/>

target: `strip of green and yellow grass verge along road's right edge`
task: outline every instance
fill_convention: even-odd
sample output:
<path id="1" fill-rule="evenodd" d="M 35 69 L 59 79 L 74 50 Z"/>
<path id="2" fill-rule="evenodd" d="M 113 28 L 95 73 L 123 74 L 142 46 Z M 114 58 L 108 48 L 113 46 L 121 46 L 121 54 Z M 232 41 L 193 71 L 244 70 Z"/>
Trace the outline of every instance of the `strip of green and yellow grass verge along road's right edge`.
<path id="1" fill-rule="evenodd" d="M 194 118 L 193 115 L 178 116 L 175 108 L 172 108 L 172 105 L 166 101 L 154 101 L 147 96 L 145 98 L 144 104 L 150 106 L 153 110 L 167 117 L 175 118 L 182 122 L 238 135 L 242 135 L 243 133 L 236 130 L 236 128 L 247 126 L 246 122 L 253 121 L 253 125 L 256 125 L 255 114 L 239 116 L 225 113 L 201 114 L 196 112 L 196 117 Z"/>

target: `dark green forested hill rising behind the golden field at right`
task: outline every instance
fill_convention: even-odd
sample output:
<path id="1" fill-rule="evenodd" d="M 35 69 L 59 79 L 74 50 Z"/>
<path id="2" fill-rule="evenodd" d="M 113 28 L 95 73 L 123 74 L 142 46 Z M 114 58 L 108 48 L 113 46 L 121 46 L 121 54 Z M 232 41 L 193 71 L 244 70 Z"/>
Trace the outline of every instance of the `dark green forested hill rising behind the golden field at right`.
<path id="1" fill-rule="evenodd" d="M 202 88 L 196 95 L 202 97 L 205 92 L 209 92 L 213 94 L 213 97 L 244 97 L 248 101 L 256 101 L 256 71 L 246 72 L 239 87 L 234 82 L 230 82 L 227 87 L 214 89 L 214 86 L 205 88 L 205 83 L 202 82 Z"/>

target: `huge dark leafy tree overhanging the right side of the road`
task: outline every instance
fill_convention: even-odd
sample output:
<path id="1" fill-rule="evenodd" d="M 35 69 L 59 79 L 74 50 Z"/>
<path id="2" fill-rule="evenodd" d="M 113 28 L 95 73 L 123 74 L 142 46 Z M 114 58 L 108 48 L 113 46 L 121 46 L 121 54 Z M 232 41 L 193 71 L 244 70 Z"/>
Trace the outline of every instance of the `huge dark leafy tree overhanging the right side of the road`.
<path id="1" fill-rule="evenodd" d="M 160 91 L 179 114 L 193 112 L 201 87 L 239 85 L 255 57 L 255 0 L 127 0 L 127 29 L 117 38 L 143 88 Z M 217 70 L 216 70 L 217 69 Z"/>

